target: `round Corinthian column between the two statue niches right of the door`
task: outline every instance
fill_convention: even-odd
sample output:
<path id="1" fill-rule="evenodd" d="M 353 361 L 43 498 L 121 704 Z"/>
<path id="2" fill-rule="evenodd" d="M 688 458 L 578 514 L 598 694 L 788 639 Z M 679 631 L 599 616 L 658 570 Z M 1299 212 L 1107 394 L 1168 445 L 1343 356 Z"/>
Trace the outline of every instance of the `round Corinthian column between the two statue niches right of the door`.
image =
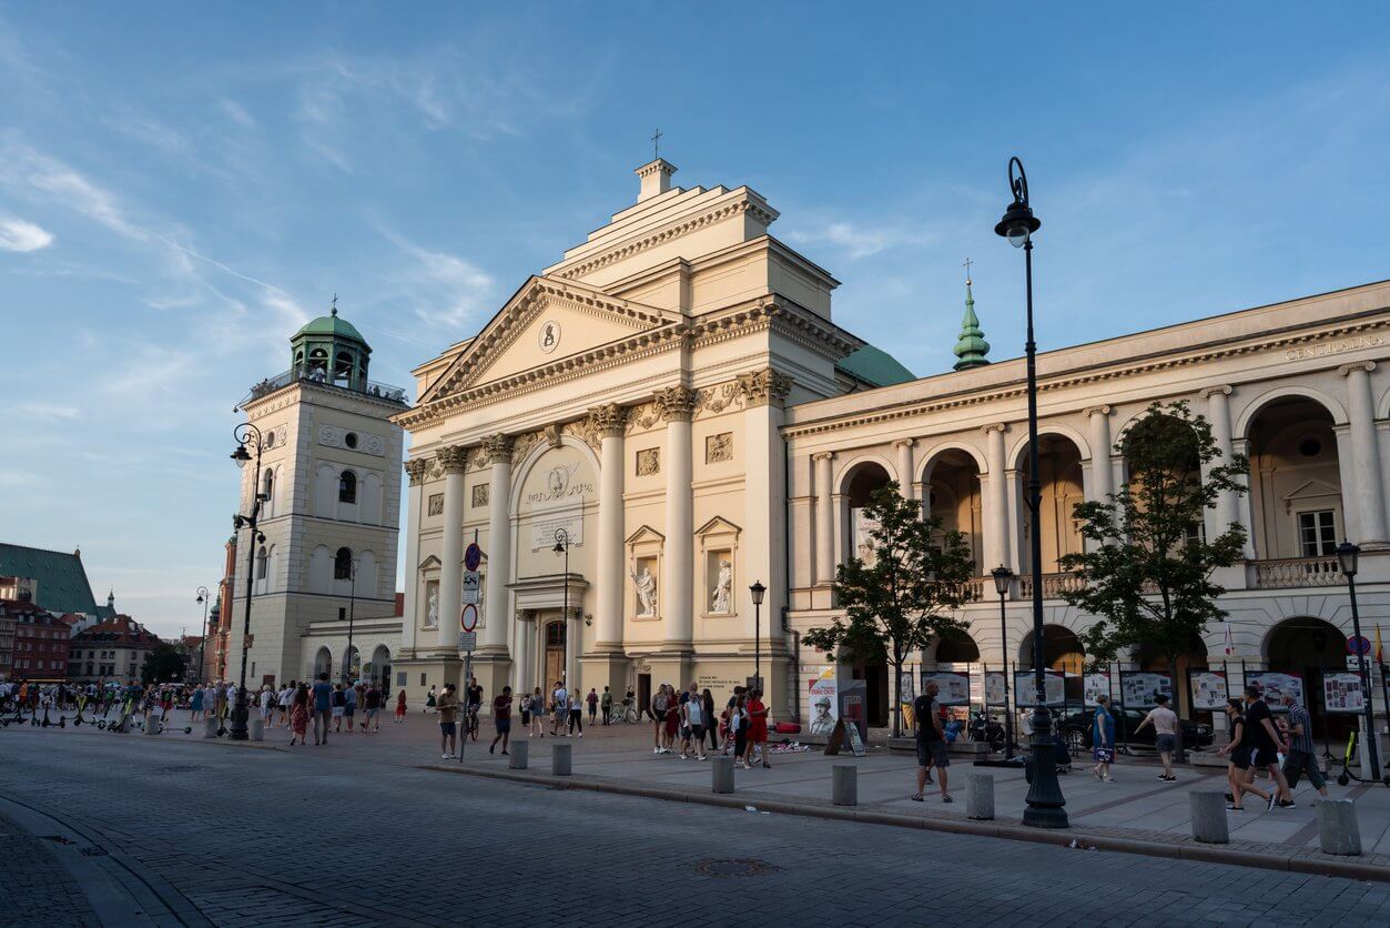
<path id="1" fill-rule="evenodd" d="M 666 618 L 666 643 L 688 648 L 695 630 L 695 499 L 691 490 L 691 417 L 695 391 L 669 387 L 657 391 L 656 408 L 666 420 L 666 555 L 659 593 Z"/>

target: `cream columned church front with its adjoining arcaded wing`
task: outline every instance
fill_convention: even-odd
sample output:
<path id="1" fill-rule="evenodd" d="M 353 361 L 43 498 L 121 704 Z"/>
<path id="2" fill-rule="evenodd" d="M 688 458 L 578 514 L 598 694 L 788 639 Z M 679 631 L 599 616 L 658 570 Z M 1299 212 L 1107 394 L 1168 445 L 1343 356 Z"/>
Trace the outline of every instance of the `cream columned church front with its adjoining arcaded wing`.
<path id="1" fill-rule="evenodd" d="M 912 378 L 837 324 L 837 281 L 769 234 L 777 211 L 759 193 L 677 188 L 674 171 L 638 168 L 634 206 L 414 371 L 417 401 L 393 416 L 411 448 L 392 654 L 414 696 L 461 679 L 475 541 L 473 669 L 488 693 L 557 680 L 724 693 L 756 668 L 777 717 L 805 719 L 808 683 L 834 661 L 801 636 L 835 615 L 835 565 L 890 480 L 965 531 L 976 561 L 969 640 L 916 664 L 1027 665 L 1026 540 L 1040 531 L 1044 659 L 1079 669 L 1093 619 L 1061 598 L 1072 580 L 1056 559 L 1081 544 L 1069 513 L 1123 484 L 1116 448 L 1154 399 L 1186 399 L 1223 452 L 1251 459 L 1250 493 L 1208 526 L 1251 529 L 1245 563 L 1218 577 L 1230 622 L 1194 643 L 1190 666 L 1341 662 L 1344 537 L 1364 548 L 1364 619 L 1390 611 L 1390 284 L 1041 355 L 1034 526 L 1023 362 L 987 362 L 972 306 L 956 370 Z M 1019 575 L 1002 633 L 995 566 Z M 885 717 L 885 669 L 841 671 Z"/>

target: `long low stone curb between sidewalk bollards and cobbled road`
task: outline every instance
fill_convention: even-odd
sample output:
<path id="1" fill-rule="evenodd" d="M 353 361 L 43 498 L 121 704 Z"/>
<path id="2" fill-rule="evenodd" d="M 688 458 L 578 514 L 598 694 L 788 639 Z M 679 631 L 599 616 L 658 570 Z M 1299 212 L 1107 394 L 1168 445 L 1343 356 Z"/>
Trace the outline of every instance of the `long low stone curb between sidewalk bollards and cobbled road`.
<path id="1" fill-rule="evenodd" d="M 659 799 L 674 803 L 698 803 L 701 806 L 714 806 L 720 808 L 742 808 L 745 806 L 755 804 L 758 806 L 758 811 L 762 813 L 803 815 L 831 821 L 852 821 L 867 825 L 888 825 L 892 828 L 920 828 L 924 831 L 951 835 L 1002 838 L 1005 840 L 1029 842 L 1033 845 L 1066 847 L 1074 840 L 1081 847 L 1095 847 L 1098 850 L 1118 851 L 1122 854 L 1163 857 L 1168 860 L 1190 860 L 1207 864 L 1227 864 L 1232 867 L 1255 867 L 1259 870 L 1312 874 L 1316 877 L 1343 877 L 1346 879 L 1369 882 L 1390 882 L 1390 867 L 1376 867 L 1375 864 L 1343 860 L 1320 854 L 1319 851 L 1309 853 L 1304 847 L 1290 849 L 1289 851 L 1280 853 L 1223 847 L 1220 845 L 1188 845 L 1141 840 L 1137 838 L 1115 838 L 1104 833 L 1088 833 L 1079 829 L 1052 832 L 1027 828 L 1013 822 L 983 822 L 926 817 L 917 818 L 913 815 L 899 815 L 897 813 L 860 811 L 853 807 L 798 806 L 785 800 L 762 800 L 753 797 L 739 799 L 737 793 L 689 793 L 674 789 L 660 789 L 657 786 L 634 786 L 587 776 L 553 776 L 550 774 L 532 774 L 530 771 L 492 771 L 471 767 L 445 767 L 442 764 L 423 764 L 418 769 L 439 771 L 442 774 L 461 774 L 464 776 L 482 776 L 486 779 L 502 779 L 516 783 L 543 783 L 556 789 L 582 789 L 594 793 L 610 793 L 616 796 L 639 796 L 642 799 Z"/>

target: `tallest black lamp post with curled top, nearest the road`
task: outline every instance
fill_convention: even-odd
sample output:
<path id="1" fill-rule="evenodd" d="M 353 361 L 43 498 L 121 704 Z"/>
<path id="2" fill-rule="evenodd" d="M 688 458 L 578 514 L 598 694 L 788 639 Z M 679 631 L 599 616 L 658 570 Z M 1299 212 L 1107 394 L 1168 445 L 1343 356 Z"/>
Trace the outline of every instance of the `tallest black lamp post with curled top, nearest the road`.
<path id="1" fill-rule="evenodd" d="M 1056 767 L 1052 761 L 1052 715 L 1047 708 L 1047 675 L 1042 671 L 1042 533 L 1038 531 L 1038 512 L 1042 508 L 1042 481 L 1038 477 L 1038 377 L 1037 342 L 1033 339 L 1033 232 L 1042 225 L 1029 206 L 1029 178 L 1023 173 L 1023 161 L 1009 159 L 1009 189 L 1013 202 L 1004 211 L 1004 218 L 994 232 L 1009 239 L 1009 245 L 1023 249 L 1023 269 L 1027 287 L 1027 392 L 1029 392 L 1029 512 L 1033 513 L 1033 531 L 1029 533 L 1033 569 L 1033 682 L 1037 700 L 1033 707 L 1033 735 L 1029 739 L 1033 764 L 1033 783 L 1029 789 L 1029 807 L 1023 811 L 1023 824 L 1036 828 L 1066 828 L 1066 799 L 1062 785 L 1056 781 Z"/>

